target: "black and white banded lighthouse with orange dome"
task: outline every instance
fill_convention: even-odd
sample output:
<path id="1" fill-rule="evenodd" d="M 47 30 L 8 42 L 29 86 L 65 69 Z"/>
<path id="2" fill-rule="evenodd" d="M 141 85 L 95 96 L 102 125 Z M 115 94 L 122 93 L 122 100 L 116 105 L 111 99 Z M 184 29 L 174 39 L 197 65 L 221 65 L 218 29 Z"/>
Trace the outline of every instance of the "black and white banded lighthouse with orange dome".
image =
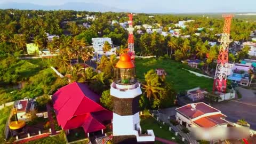
<path id="1" fill-rule="evenodd" d="M 113 140 L 114 143 L 137 143 L 155 140 L 154 132 L 140 137 L 139 118 L 140 83 L 135 79 L 135 66 L 129 54 L 120 56 L 116 64 L 114 82 L 110 95 L 113 96 Z"/>

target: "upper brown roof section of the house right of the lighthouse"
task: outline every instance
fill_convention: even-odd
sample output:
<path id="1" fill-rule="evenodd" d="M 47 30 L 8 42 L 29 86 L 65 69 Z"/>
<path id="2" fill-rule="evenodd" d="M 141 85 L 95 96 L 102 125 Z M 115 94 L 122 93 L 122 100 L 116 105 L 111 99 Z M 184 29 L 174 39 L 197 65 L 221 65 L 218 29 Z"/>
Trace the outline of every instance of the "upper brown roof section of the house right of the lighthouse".
<path id="1" fill-rule="evenodd" d="M 177 108 L 176 110 L 182 115 L 187 116 L 191 119 L 196 118 L 198 116 L 202 116 L 206 113 L 214 113 L 219 111 L 215 108 L 210 107 L 209 105 L 206 105 L 204 102 L 195 103 L 195 105 L 195 110 L 191 109 L 192 107 L 190 104 Z"/>

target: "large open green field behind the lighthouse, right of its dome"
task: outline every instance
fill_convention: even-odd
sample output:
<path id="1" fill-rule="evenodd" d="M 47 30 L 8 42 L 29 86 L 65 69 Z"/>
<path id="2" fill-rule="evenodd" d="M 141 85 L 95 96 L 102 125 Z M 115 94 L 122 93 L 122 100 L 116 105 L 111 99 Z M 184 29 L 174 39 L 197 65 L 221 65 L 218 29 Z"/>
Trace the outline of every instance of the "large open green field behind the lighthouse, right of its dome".
<path id="1" fill-rule="evenodd" d="M 169 59 L 136 59 L 135 61 L 138 79 L 144 79 L 144 74 L 150 69 L 163 68 L 165 69 L 166 81 L 172 83 L 177 92 L 186 91 L 200 86 L 203 89 L 212 91 L 213 79 L 206 77 L 198 77 L 189 73 L 185 69 L 199 72 L 197 69 L 190 68 L 186 64 L 176 62 Z"/>

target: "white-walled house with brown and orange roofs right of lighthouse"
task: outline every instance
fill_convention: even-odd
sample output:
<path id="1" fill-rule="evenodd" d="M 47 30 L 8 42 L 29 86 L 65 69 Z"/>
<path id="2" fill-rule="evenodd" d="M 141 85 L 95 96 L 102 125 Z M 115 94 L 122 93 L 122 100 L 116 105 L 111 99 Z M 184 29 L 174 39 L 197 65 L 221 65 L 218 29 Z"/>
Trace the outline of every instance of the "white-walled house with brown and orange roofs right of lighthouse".
<path id="1" fill-rule="evenodd" d="M 190 103 L 176 110 L 176 120 L 179 124 L 187 127 L 211 128 L 218 126 L 227 127 L 226 115 L 204 102 Z"/>

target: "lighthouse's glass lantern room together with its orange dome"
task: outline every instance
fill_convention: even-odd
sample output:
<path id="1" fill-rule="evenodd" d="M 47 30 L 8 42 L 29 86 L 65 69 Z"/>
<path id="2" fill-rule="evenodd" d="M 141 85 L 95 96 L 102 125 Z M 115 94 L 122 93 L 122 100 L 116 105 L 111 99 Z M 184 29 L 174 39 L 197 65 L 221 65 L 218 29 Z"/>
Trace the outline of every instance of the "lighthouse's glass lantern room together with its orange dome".
<path id="1" fill-rule="evenodd" d="M 136 82 L 135 66 L 127 53 L 122 54 L 116 63 L 114 82 L 121 85 L 130 85 Z"/>

